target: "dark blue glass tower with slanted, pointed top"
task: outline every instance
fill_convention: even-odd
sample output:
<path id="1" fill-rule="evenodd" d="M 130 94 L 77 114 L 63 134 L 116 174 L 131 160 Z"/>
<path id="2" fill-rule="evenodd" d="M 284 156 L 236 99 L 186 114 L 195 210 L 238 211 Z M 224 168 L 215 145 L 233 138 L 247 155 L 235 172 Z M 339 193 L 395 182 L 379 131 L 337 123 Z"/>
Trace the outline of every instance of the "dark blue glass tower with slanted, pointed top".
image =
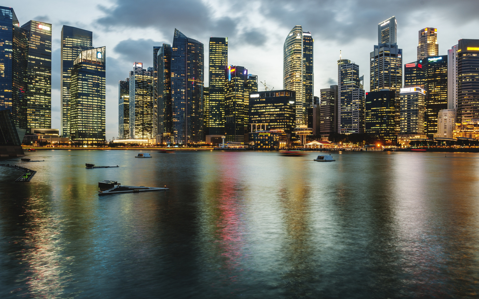
<path id="1" fill-rule="evenodd" d="M 174 143 L 204 141 L 203 44 L 175 29 L 171 47 L 171 106 Z"/>

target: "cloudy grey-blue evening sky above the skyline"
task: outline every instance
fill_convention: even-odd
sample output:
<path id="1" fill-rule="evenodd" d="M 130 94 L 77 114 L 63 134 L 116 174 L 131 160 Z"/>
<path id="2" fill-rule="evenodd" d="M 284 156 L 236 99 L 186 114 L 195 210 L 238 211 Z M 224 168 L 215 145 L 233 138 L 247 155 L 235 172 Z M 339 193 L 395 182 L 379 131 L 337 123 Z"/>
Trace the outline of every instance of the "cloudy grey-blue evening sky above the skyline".
<path id="1" fill-rule="evenodd" d="M 8 2 L 8 1 L 7 1 Z M 63 25 L 93 32 L 106 46 L 106 137 L 118 132 L 118 80 L 133 62 L 152 66 L 154 45 L 171 44 L 174 28 L 205 44 L 207 80 L 210 36 L 228 36 L 228 64 L 248 68 L 275 89 L 282 88 L 283 43 L 295 25 L 314 38 L 314 86 L 337 84 L 339 51 L 359 64 L 369 89 L 369 53 L 377 24 L 396 16 L 403 62 L 416 60 L 418 31 L 435 27 L 439 54 L 461 38 L 479 39 L 477 0 L 10 0 L 21 24 L 52 23 L 52 127 L 60 123 L 60 33 Z M 205 81 L 205 86 L 208 86 Z M 260 90 L 263 90 L 260 84 Z"/>

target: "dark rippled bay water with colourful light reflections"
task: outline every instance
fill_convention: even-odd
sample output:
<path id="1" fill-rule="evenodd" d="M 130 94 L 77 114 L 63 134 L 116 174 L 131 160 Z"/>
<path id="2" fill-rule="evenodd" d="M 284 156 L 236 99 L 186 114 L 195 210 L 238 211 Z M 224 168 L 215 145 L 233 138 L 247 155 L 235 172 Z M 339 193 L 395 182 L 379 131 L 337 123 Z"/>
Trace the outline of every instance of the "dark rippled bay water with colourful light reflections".
<path id="1" fill-rule="evenodd" d="M 0 167 L 0 298 L 478 298 L 478 154 L 150 154 Z"/>

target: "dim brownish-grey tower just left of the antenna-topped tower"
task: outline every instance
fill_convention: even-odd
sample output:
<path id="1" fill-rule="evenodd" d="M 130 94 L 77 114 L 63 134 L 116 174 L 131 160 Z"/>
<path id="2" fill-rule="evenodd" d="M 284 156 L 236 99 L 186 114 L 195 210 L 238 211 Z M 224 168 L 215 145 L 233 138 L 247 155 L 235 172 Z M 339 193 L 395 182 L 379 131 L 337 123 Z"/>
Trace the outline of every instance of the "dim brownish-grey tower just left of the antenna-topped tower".
<path id="1" fill-rule="evenodd" d="M 331 85 L 330 88 L 321 89 L 321 98 L 319 105 L 319 130 L 316 134 L 321 136 L 330 136 L 337 133 L 338 123 L 338 86 Z M 314 128 L 313 128 L 314 132 Z"/>

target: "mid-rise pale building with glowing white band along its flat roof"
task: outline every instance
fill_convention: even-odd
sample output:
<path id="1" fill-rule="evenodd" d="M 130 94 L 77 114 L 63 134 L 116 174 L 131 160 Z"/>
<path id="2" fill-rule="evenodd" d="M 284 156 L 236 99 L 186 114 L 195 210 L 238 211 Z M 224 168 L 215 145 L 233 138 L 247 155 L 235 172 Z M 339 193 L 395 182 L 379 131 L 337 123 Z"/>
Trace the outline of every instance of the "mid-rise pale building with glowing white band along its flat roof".
<path id="1" fill-rule="evenodd" d="M 400 134 L 424 135 L 426 92 L 419 87 L 400 89 Z M 425 135 L 424 135 L 425 137 Z"/>

